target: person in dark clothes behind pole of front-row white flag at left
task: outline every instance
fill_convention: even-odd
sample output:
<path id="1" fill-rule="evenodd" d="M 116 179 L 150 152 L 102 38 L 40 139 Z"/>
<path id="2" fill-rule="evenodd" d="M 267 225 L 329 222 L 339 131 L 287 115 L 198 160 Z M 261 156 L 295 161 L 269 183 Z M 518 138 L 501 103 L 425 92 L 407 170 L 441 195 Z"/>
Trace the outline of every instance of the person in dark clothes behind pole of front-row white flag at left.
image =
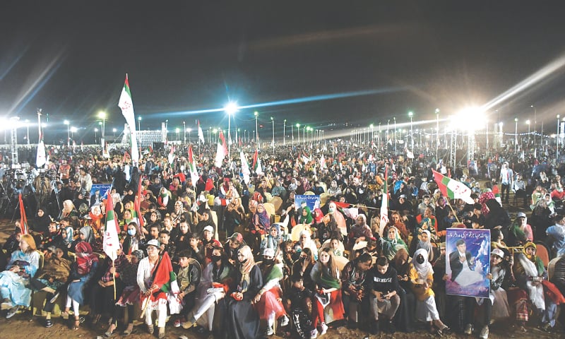
<path id="1" fill-rule="evenodd" d="M 117 257 L 113 263 L 109 256 L 105 258 L 101 268 L 97 270 L 97 276 L 95 277 L 97 283 L 93 284 L 89 289 L 90 314 L 93 315 L 91 319 L 92 325 L 95 325 L 98 321 L 100 321 L 102 313 L 109 313 L 112 309 L 114 309 L 113 306 L 116 304 L 115 296 L 121 295 L 121 291 L 124 290 L 124 285 L 118 277 L 128 259 L 124 254 L 121 244 L 119 244 L 119 249 L 117 249 L 116 254 Z M 116 291 L 115 295 L 114 290 Z M 117 320 L 118 319 L 112 319 L 115 325 L 117 325 Z"/>

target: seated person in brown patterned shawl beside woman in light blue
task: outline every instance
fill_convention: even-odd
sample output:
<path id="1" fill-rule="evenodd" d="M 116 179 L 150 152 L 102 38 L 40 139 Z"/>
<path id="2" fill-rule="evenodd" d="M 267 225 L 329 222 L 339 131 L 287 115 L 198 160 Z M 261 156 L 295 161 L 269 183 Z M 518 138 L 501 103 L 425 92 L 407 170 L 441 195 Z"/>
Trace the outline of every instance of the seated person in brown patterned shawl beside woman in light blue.
<path id="1" fill-rule="evenodd" d="M 43 307 L 43 311 L 47 313 L 44 323 L 44 326 L 47 328 L 53 326 L 51 312 L 59 296 L 58 290 L 65 285 L 70 273 L 71 260 L 67 256 L 66 248 L 49 247 L 45 254 L 42 270 L 40 270 L 36 278 L 32 278 L 30 281 L 30 285 L 34 290 L 47 292 L 45 306 Z"/>

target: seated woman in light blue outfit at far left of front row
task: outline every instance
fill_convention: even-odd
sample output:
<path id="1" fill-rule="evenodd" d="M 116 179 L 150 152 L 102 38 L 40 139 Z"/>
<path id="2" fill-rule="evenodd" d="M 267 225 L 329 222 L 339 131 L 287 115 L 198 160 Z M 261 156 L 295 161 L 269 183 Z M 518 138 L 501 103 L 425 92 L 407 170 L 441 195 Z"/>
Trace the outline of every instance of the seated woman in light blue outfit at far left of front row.
<path id="1" fill-rule="evenodd" d="M 20 307 L 29 307 L 31 290 L 27 287 L 40 264 L 40 254 L 35 250 L 35 241 L 30 234 L 20 238 L 20 249 L 14 251 L 6 266 L 8 270 L 0 273 L 1 309 L 8 309 L 6 319 L 10 319 Z"/>

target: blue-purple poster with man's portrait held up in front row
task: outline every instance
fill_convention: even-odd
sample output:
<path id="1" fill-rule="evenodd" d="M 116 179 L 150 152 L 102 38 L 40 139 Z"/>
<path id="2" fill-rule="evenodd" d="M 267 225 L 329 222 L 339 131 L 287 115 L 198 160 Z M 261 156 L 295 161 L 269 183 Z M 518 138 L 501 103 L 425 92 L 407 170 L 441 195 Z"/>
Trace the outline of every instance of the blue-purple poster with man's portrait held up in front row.
<path id="1" fill-rule="evenodd" d="M 490 230 L 448 228 L 446 261 L 448 295 L 489 297 Z"/>

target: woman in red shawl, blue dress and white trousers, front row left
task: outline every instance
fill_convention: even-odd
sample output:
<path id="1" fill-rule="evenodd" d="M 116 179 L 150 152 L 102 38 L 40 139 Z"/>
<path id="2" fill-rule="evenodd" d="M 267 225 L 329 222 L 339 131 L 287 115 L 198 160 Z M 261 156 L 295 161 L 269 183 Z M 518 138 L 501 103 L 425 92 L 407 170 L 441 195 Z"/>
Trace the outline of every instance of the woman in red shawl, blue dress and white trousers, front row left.
<path id="1" fill-rule="evenodd" d="M 71 304 L 73 306 L 73 314 L 75 322 L 73 330 L 78 330 L 80 318 L 78 316 L 78 307 L 84 304 L 84 286 L 93 278 L 98 266 L 98 256 L 93 253 L 93 249 L 88 242 L 81 241 L 76 245 L 76 262 L 71 267 L 71 275 L 69 276 L 69 287 L 66 295 L 65 310 L 61 312 L 63 319 L 69 319 L 69 310 Z"/>

